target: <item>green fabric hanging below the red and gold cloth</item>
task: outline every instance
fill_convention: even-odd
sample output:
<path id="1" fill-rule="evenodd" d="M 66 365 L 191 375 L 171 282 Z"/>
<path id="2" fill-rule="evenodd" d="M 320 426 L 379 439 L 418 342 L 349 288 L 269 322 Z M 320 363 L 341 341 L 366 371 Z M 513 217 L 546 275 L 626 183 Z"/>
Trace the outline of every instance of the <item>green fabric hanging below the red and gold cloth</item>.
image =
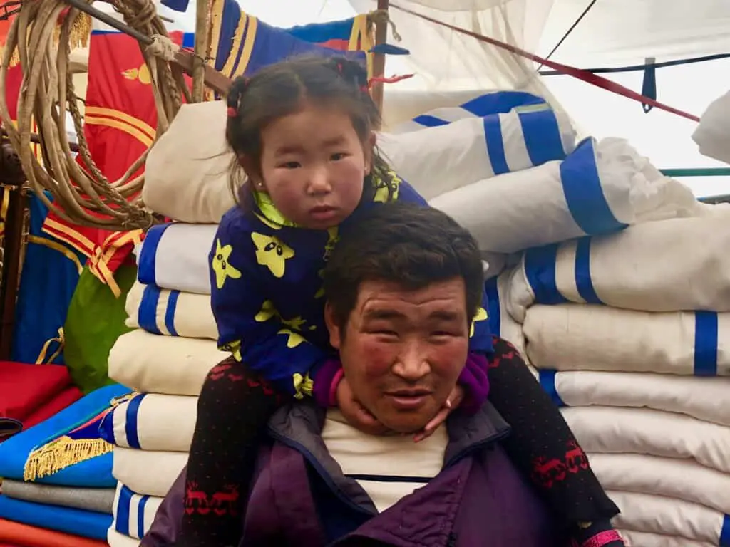
<path id="1" fill-rule="evenodd" d="M 64 358 L 84 393 L 114 383 L 109 379 L 109 352 L 120 335 L 132 330 L 124 324 L 124 303 L 137 267 L 123 265 L 114 277 L 122 291 L 119 298 L 85 267 L 66 315 Z"/>

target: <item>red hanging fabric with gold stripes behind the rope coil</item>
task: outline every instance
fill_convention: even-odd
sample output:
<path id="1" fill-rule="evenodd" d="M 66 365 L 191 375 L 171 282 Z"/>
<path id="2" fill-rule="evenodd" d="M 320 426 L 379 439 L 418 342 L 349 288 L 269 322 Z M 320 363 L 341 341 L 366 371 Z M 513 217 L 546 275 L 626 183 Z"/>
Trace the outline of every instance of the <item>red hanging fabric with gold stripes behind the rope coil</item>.
<path id="1" fill-rule="evenodd" d="M 170 36 L 182 44 L 182 33 Z M 84 135 L 94 162 L 113 182 L 155 139 L 157 110 L 150 72 L 134 38 L 95 32 L 89 44 L 88 74 Z M 81 158 L 77 160 L 84 167 Z M 115 294 L 119 290 L 113 274 L 143 237 L 142 230 L 112 232 L 71 225 L 53 212 L 43 230 L 87 255 L 92 273 Z"/>

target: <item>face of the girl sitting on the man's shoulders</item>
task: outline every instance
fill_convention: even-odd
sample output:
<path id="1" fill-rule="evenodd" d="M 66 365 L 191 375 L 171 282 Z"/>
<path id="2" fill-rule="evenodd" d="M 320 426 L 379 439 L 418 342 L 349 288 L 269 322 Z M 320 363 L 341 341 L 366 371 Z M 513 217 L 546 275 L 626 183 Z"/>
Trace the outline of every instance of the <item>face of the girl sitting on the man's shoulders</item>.
<path id="1" fill-rule="evenodd" d="M 374 133 L 369 144 L 374 145 Z M 307 104 L 261 131 L 261 175 L 254 190 L 304 228 L 326 230 L 358 206 L 372 153 L 342 109 Z M 372 150 L 372 146 L 367 147 Z"/>

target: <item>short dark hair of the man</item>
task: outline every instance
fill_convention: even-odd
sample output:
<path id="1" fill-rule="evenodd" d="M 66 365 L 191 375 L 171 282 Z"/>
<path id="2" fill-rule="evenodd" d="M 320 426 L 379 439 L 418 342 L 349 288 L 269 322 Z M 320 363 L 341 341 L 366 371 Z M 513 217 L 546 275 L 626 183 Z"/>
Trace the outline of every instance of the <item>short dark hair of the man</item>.
<path id="1" fill-rule="evenodd" d="M 472 318 L 484 291 L 477 242 L 447 214 L 396 201 L 372 207 L 342 233 L 324 270 L 324 291 L 344 330 L 363 282 L 418 290 L 454 277 L 464 279 L 466 314 Z"/>

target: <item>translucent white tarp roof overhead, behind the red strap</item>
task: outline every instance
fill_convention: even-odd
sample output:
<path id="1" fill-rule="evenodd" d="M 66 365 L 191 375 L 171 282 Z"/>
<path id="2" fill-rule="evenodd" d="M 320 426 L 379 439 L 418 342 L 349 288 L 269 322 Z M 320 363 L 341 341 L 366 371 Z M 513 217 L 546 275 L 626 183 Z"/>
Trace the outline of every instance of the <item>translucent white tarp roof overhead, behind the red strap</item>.
<path id="1" fill-rule="evenodd" d="M 287 27 L 347 18 L 368 12 L 376 0 L 238 0 L 242 9 L 266 23 Z M 548 55 L 589 0 L 391 0 L 432 18 Z M 282 9 L 286 3 L 286 9 Z M 185 14 L 164 11 L 170 28 L 193 31 L 194 0 Z M 411 51 L 388 57 L 386 73 L 416 77 L 385 90 L 390 123 L 434 106 L 458 104 L 490 89 L 523 89 L 548 96 L 575 120 L 581 133 L 621 136 L 659 168 L 721 166 L 699 154 L 691 133 L 696 124 L 639 104 L 572 77 L 535 78 L 532 63 L 469 36 L 391 9 L 391 18 Z M 598 0 L 553 55 L 553 61 L 597 68 L 730 53 L 728 0 Z M 389 42 L 393 41 L 390 34 Z M 642 72 L 607 75 L 641 91 Z M 701 115 L 730 89 L 730 61 L 711 61 L 657 71 L 658 100 Z M 698 195 L 730 193 L 730 177 L 686 180 Z"/>

